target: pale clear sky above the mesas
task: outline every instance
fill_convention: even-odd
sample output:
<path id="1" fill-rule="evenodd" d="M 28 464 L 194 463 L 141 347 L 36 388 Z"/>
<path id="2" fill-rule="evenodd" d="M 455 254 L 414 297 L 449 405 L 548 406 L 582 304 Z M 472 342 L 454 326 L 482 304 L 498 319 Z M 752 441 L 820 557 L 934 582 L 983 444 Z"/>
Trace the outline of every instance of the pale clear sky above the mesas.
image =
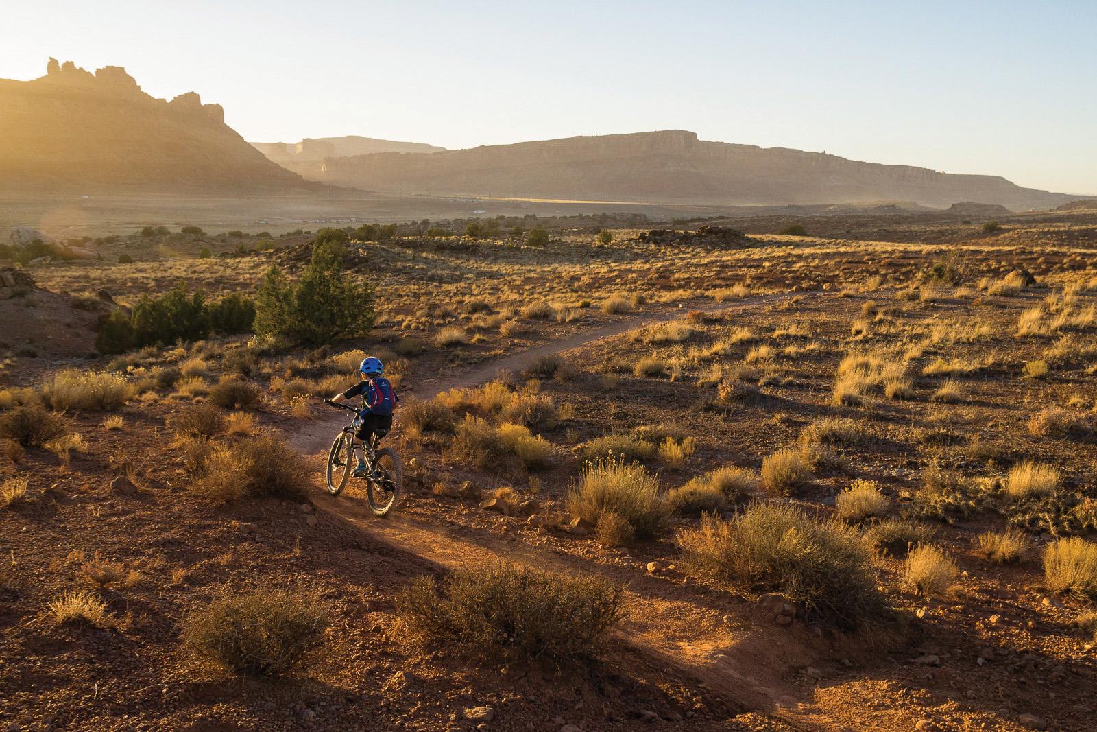
<path id="1" fill-rule="evenodd" d="M 0 0 L 46 59 L 197 91 L 250 140 L 702 139 L 1097 194 L 1097 0 Z"/>

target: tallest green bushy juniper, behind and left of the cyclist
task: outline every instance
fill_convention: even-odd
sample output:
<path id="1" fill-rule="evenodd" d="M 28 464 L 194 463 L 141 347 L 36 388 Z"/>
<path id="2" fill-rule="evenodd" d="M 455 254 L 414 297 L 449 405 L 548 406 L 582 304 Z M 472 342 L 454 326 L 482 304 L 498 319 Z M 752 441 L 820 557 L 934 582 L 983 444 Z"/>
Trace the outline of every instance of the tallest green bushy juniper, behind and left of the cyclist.
<path id="1" fill-rule="evenodd" d="M 373 290 L 343 272 L 343 254 L 338 241 L 317 241 L 295 283 L 272 264 L 256 293 L 256 333 L 289 344 L 364 336 L 373 327 Z"/>

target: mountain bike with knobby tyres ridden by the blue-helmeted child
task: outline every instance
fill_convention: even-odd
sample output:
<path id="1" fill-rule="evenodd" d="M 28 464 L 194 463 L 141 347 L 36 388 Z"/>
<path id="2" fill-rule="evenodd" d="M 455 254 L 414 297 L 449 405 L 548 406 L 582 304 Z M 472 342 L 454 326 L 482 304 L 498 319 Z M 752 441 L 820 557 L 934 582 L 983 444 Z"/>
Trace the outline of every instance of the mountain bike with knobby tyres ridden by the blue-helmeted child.
<path id="1" fill-rule="evenodd" d="M 353 414 L 350 423 L 342 428 L 331 443 L 328 453 L 328 493 L 338 496 L 347 487 L 354 470 L 354 433 L 361 425 L 359 410 L 346 404 L 325 401 L 328 406 L 346 409 Z M 400 455 L 392 448 L 380 448 L 381 438 L 388 430 L 377 430 L 365 444 L 365 466 L 369 471 L 365 477 L 365 497 L 374 516 L 387 516 L 399 500 L 404 486 L 404 465 Z"/>

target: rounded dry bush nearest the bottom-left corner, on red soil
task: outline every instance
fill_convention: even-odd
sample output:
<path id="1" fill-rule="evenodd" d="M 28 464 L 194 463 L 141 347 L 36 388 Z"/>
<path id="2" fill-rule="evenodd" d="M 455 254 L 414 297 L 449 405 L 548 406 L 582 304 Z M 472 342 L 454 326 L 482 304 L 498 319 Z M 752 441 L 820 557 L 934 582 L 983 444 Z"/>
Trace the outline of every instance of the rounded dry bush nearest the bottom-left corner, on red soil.
<path id="1" fill-rule="evenodd" d="M 238 674 L 282 674 L 324 640 L 328 609 L 303 590 L 226 595 L 182 622 L 183 645 Z"/>

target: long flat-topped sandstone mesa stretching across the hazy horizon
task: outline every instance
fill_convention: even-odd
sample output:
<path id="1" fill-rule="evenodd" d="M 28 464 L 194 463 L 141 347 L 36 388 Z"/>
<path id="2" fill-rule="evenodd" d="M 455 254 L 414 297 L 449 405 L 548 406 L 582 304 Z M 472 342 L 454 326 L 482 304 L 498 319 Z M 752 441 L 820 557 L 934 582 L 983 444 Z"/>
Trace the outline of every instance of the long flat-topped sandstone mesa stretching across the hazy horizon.
<path id="1" fill-rule="evenodd" d="M 1072 198 L 996 176 L 700 140 L 681 129 L 328 158 L 321 180 L 380 192 L 714 205 L 958 201 L 1013 210 Z"/>

